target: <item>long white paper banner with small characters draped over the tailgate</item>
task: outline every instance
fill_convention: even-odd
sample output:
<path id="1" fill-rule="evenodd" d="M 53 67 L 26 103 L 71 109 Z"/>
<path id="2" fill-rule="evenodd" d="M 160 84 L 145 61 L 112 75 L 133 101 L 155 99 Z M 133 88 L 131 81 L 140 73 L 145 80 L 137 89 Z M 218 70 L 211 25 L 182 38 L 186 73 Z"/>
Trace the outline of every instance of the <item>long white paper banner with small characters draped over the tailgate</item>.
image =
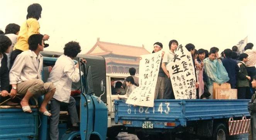
<path id="1" fill-rule="evenodd" d="M 139 87 L 134 89 L 126 101 L 145 107 L 154 106 L 154 94 L 161 63 L 162 51 L 141 56 L 139 63 Z"/>

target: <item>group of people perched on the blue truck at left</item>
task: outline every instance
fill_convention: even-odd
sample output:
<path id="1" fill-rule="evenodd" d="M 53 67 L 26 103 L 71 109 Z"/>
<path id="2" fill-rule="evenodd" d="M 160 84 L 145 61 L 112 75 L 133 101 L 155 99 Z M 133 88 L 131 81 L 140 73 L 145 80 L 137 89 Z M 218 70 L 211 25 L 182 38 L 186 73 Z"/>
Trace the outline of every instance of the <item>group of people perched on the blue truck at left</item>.
<path id="1" fill-rule="evenodd" d="M 5 33 L 0 30 L 0 100 L 8 100 L 5 105 L 17 105 L 14 100 L 17 94 L 23 96 L 20 101 L 22 110 L 32 114 L 29 99 L 44 95 L 39 113 L 49 117 L 49 136 L 58 140 L 60 105 L 68 104 L 72 127 L 69 131 L 78 130 L 76 101 L 70 96 L 72 82 L 80 81 L 79 65 L 73 59 L 81 52 L 78 42 L 70 41 L 64 46 L 64 54 L 54 64 L 47 82 L 42 81 L 43 57 L 40 54 L 49 44 L 49 35 L 41 35 L 38 23 L 42 7 L 34 3 L 27 8 L 27 20 L 19 26 L 8 24 Z M 86 63 L 84 59 L 81 59 Z M 10 93 L 10 94 L 9 94 Z M 12 102 L 13 101 L 13 102 Z M 51 112 L 46 108 L 51 101 Z"/>

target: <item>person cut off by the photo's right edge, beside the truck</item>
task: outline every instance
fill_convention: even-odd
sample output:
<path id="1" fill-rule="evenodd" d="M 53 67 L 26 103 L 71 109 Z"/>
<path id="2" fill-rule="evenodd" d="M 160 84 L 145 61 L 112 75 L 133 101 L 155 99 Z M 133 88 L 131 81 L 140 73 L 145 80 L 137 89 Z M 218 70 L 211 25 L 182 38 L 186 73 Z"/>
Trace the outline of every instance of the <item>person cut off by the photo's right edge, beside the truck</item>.
<path id="1" fill-rule="evenodd" d="M 256 89 L 256 76 L 253 77 L 251 82 L 252 87 Z M 248 103 L 248 110 L 251 114 L 251 132 L 253 140 L 256 140 L 256 93 L 253 94 L 251 102 Z"/>

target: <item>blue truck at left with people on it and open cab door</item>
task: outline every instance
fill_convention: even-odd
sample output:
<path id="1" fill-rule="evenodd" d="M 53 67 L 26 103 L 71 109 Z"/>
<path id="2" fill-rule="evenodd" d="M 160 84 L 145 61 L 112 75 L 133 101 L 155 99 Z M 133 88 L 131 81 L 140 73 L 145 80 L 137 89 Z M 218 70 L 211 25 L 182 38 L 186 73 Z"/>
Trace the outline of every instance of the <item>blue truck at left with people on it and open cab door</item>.
<path id="1" fill-rule="evenodd" d="M 80 117 L 80 130 L 67 131 L 70 127 L 67 105 L 61 105 L 59 118 L 60 140 L 105 140 L 107 135 L 107 106 L 105 94 L 105 59 L 98 56 L 78 56 L 87 60 L 80 65 L 81 80 L 73 83 L 72 90 L 80 91 L 73 96 Z M 54 66 L 57 58 L 44 57 L 42 80 L 47 81 L 48 67 Z M 78 58 L 76 58 L 78 60 Z M 75 61 L 77 63 L 77 61 Z M 80 64 L 80 63 L 79 63 Z M 20 97 L 22 99 L 22 97 Z M 0 102 L 1 140 L 48 140 L 49 118 L 39 114 L 43 97 L 30 100 L 32 114 L 25 114 L 20 105 L 9 106 Z M 3 99 L 1 99 L 3 101 Z M 4 101 L 3 101 L 4 102 Z"/>

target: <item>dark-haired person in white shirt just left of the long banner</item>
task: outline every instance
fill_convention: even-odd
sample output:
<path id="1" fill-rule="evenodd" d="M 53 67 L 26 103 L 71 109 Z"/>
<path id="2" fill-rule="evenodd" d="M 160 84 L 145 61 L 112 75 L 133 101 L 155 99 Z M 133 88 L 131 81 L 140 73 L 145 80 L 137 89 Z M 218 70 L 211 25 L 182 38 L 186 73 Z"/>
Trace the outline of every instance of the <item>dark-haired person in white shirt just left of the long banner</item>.
<path id="1" fill-rule="evenodd" d="M 131 95 L 132 91 L 134 89 L 136 89 L 136 85 L 135 85 L 135 82 L 134 82 L 134 79 L 132 76 L 128 76 L 126 79 L 125 79 L 125 84 L 127 86 L 127 89 L 125 90 L 125 95 L 122 95 L 122 96 L 118 96 L 118 99 L 128 99 L 128 97 Z"/>

